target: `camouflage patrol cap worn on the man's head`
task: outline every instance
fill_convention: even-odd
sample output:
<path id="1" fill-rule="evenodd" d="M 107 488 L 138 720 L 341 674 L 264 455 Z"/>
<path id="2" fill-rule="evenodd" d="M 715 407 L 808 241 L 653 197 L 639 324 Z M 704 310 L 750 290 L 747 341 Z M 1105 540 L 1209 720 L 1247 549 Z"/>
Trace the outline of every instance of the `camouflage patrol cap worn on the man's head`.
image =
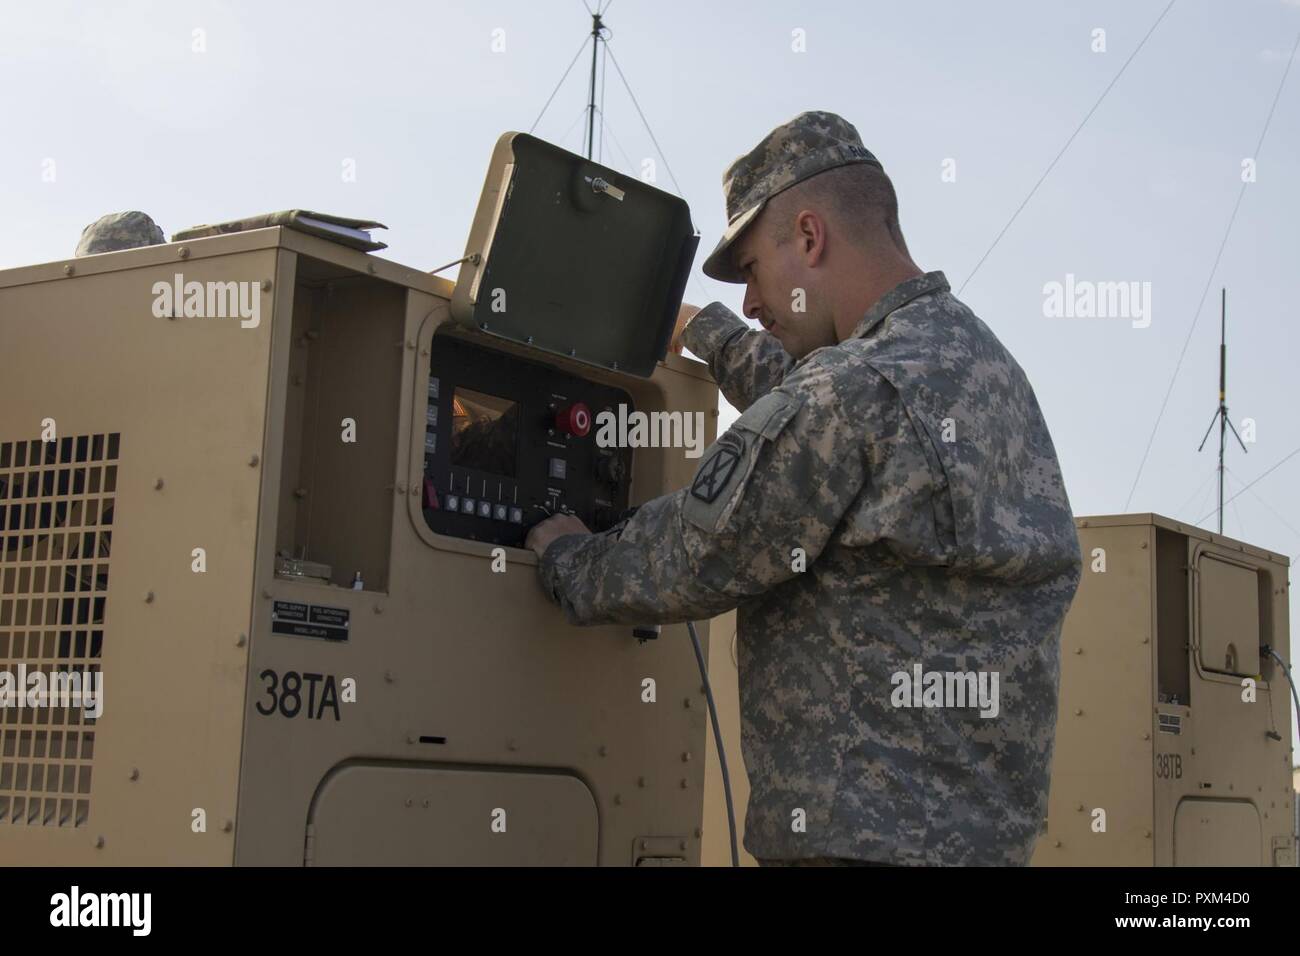
<path id="1" fill-rule="evenodd" d="M 853 124 L 823 111 L 800 113 L 763 137 L 763 140 L 731 164 L 723 176 L 727 229 L 718 247 L 705 260 L 705 274 L 723 282 L 744 282 L 731 261 L 731 246 L 754 221 L 768 199 L 827 169 L 850 163 L 880 161 L 862 144 Z"/>

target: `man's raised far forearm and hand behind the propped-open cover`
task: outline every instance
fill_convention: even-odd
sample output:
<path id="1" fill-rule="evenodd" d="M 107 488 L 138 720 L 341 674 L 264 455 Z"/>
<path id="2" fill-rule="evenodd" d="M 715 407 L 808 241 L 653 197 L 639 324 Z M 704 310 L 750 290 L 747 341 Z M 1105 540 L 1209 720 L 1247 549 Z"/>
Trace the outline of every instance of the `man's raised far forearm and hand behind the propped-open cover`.
<path id="1" fill-rule="evenodd" d="M 775 336 L 749 328 L 720 302 L 699 310 L 681 341 L 708 363 L 718 388 L 740 411 L 780 385 L 794 365 Z"/>

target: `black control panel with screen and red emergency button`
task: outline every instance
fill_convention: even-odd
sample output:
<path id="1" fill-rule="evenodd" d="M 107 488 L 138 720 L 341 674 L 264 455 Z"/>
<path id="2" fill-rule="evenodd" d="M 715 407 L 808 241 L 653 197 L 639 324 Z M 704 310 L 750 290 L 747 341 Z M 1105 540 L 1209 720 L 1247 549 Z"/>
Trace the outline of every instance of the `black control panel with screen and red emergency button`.
<path id="1" fill-rule="evenodd" d="M 632 450 L 602 447 L 597 420 L 632 410 L 621 389 L 434 336 L 424 433 L 424 518 L 439 535 L 524 546 L 551 514 L 592 531 L 628 507 Z"/>

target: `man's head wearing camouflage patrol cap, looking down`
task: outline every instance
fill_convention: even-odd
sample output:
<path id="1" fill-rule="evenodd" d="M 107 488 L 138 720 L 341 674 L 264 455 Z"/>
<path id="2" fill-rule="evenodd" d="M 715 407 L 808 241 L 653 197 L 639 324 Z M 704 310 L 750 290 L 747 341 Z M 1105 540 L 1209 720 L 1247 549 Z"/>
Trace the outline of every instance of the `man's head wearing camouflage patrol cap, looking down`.
<path id="1" fill-rule="evenodd" d="M 833 113 L 801 113 L 772 130 L 731 165 L 723 189 L 729 222 L 705 273 L 744 282 L 745 315 L 794 358 L 857 324 L 866 272 L 915 268 L 889 177 Z"/>

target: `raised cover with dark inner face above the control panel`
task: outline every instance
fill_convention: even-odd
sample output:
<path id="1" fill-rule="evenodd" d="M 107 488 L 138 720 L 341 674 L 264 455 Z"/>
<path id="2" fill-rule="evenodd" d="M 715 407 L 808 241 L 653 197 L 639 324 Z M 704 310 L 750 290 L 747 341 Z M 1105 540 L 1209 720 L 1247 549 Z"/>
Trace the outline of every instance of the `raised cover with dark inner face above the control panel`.
<path id="1" fill-rule="evenodd" d="M 667 351 L 698 245 L 684 199 L 506 133 L 451 315 L 490 336 L 649 377 Z"/>

